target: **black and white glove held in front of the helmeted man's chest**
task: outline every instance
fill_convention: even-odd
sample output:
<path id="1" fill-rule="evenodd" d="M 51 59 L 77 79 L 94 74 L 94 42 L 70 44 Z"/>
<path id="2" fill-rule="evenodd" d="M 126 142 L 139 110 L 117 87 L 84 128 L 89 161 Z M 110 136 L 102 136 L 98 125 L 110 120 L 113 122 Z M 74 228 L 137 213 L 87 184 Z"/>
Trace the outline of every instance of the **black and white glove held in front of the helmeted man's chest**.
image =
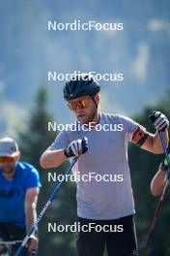
<path id="1" fill-rule="evenodd" d="M 88 139 L 84 137 L 82 140 L 78 139 L 72 141 L 65 150 L 64 154 L 67 157 L 76 156 L 78 157 L 80 154 L 84 154 L 88 150 Z"/>

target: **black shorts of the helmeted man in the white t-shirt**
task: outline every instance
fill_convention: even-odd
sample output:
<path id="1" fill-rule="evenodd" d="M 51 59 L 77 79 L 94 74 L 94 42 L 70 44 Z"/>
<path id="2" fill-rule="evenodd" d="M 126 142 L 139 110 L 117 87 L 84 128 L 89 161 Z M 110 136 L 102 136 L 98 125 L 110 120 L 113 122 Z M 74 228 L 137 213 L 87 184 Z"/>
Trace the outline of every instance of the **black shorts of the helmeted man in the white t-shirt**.
<path id="1" fill-rule="evenodd" d="M 78 217 L 78 222 L 81 228 L 78 230 L 76 240 L 78 256 L 102 256 L 105 248 L 108 256 L 138 255 L 133 215 L 115 220 L 92 220 Z M 84 232 L 83 225 L 86 227 L 91 225 L 95 228 L 91 228 L 90 232 Z"/>

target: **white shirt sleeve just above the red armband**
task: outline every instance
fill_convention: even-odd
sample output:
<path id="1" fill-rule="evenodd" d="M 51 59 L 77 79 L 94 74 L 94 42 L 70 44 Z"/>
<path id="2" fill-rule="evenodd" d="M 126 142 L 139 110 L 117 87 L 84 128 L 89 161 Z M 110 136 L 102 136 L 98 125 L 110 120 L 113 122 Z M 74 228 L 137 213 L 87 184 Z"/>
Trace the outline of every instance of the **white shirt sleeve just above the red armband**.
<path id="1" fill-rule="evenodd" d="M 121 121 L 124 126 L 126 137 L 128 138 L 128 141 L 131 141 L 134 133 L 136 132 L 140 125 L 139 123 L 133 121 L 131 118 L 124 115 L 121 116 Z"/>

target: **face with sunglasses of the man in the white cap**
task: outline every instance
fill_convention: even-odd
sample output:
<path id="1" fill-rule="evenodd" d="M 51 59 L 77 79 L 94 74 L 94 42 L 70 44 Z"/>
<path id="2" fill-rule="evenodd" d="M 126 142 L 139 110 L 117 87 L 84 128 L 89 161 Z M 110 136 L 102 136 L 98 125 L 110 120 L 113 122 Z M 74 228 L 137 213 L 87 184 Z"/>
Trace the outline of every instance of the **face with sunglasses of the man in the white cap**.
<path id="1" fill-rule="evenodd" d="M 5 174 L 11 174 L 15 169 L 15 159 L 10 156 L 0 156 L 0 169 Z"/>

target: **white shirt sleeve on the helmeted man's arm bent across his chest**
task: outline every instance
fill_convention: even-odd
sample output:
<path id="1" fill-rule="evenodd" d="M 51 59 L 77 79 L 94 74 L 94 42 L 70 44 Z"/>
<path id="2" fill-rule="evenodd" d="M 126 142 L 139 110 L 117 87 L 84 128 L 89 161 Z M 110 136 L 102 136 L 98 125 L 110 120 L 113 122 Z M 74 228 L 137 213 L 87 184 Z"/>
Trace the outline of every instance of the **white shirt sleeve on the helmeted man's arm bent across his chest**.
<path id="1" fill-rule="evenodd" d="M 67 132 L 62 131 L 57 135 L 53 144 L 49 146 L 49 150 L 63 149 L 66 148 L 66 146 L 70 143 L 71 141 L 69 139 Z"/>

